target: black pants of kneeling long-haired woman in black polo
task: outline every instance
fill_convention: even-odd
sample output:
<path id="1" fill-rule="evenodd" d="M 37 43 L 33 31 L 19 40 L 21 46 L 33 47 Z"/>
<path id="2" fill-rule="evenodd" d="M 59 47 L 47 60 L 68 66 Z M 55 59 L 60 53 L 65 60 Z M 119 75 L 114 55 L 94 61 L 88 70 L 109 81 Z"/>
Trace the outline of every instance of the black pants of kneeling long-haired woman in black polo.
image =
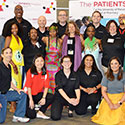
<path id="1" fill-rule="evenodd" d="M 92 110 L 96 110 L 96 106 L 98 105 L 101 98 L 101 93 L 93 93 L 88 95 L 85 92 L 81 92 L 80 102 L 76 106 L 76 114 L 84 115 L 87 113 L 88 106 L 92 107 Z"/>

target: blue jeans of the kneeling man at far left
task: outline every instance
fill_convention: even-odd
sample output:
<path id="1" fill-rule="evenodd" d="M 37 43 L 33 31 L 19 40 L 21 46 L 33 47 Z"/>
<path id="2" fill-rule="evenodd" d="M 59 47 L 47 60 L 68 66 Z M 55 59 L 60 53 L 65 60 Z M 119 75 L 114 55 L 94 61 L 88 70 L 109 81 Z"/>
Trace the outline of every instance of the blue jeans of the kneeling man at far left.
<path id="1" fill-rule="evenodd" d="M 17 101 L 16 111 L 14 113 L 17 117 L 24 117 L 26 113 L 26 99 L 27 95 L 23 92 L 19 95 L 17 91 L 8 91 L 6 94 L 0 94 L 0 103 L 2 109 L 0 110 L 0 123 L 6 119 L 7 101 Z"/>

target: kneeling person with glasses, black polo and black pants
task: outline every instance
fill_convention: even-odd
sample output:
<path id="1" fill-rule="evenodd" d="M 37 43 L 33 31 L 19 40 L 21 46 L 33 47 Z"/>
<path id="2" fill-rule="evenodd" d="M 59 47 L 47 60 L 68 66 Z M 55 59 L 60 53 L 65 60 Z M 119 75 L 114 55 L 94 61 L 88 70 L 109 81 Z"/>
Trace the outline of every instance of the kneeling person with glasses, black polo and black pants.
<path id="1" fill-rule="evenodd" d="M 80 89 L 79 79 L 74 71 L 71 71 L 71 59 L 64 56 L 61 60 L 62 70 L 57 72 L 55 76 L 56 89 L 54 102 L 51 107 L 52 120 L 60 120 L 63 106 L 68 106 L 68 116 L 73 117 L 73 110 L 79 103 Z"/>

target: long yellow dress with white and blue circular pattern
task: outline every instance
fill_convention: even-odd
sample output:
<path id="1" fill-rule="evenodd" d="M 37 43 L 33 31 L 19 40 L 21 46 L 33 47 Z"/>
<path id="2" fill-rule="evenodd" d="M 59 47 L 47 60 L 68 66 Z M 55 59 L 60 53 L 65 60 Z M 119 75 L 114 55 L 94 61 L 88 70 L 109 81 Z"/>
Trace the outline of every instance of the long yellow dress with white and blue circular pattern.
<path id="1" fill-rule="evenodd" d="M 16 38 L 12 36 L 11 42 L 10 42 L 10 48 L 12 49 L 13 55 L 12 55 L 12 60 L 17 66 L 18 69 L 18 74 L 14 73 L 13 66 L 11 65 L 11 74 L 12 74 L 12 82 L 14 85 L 21 89 L 22 87 L 22 67 L 24 66 L 24 59 L 23 55 L 21 53 L 23 49 L 23 44 L 22 40 L 18 37 L 19 43 L 17 42 Z"/>

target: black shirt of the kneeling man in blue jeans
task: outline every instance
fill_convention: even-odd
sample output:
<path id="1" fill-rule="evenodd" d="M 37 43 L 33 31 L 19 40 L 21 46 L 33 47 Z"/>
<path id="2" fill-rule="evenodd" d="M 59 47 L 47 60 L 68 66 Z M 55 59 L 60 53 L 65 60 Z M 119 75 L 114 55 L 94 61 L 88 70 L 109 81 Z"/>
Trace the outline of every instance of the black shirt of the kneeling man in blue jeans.
<path id="1" fill-rule="evenodd" d="M 0 62 L 0 92 L 7 92 L 11 85 L 11 67 L 6 67 L 6 65 Z"/>

